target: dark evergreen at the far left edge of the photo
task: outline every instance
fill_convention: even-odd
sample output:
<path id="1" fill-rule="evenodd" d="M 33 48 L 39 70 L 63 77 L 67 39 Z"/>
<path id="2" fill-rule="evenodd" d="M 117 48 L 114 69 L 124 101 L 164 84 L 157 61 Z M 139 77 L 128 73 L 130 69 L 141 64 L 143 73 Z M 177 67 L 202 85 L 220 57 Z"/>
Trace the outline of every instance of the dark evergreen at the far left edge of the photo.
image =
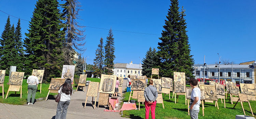
<path id="1" fill-rule="evenodd" d="M 0 39 L 0 69 L 6 70 L 6 75 L 8 75 L 10 71 L 10 63 L 8 64 L 8 62 L 11 60 L 12 35 L 13 30 L 11 30 L 10 16 L 8 16 Z"/>

